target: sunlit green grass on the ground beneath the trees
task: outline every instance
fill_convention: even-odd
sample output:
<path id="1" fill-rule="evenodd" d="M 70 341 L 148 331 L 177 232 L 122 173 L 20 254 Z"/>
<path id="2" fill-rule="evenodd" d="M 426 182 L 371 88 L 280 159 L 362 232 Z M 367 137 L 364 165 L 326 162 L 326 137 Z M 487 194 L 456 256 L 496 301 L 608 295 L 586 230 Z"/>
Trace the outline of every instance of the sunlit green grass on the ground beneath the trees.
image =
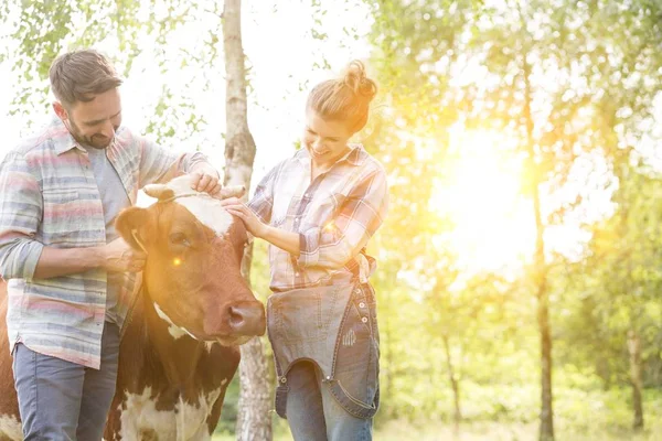
<path id="1" fill-rule="evenodd" d="M 662 391 L 644 391 L 645 430 L 634 432 L 629 388 L 581 390 L 557 387 L 554 400 L 555 441 L 662 441 Z M 490 392 L 492 395 L 487 395 Z M 452 424 L 441 418 L 430 420 L 389 419 L 388 406 L 377 413 L 375 441 L 537 441 L 538 405 L 532 390 L 522 386 L 511 389 L 491 386 L 467 392 L 462 415 L 467 418 L 455 433 Z M 407 409 L 406 400 L 392 400 Z M 404 404 L 405 402 L 405 404 Z M 444 404 L 440 400 L 439 404 Z M 384 404 L 383 404 L 384 405 Z M 410 409 L 415 410 L 415 405 Z M 451 405 L 449 405 L 451 406 Z M 450 415 L 450 408 L 429 409 L 427 415 Z M 415 415 L 414 411 L 408 415 Z M 425 417 L 424 417 L 425 418 Z M 226 428 L 232 426 L 226 424 Z M 231 433 L 214 441 L 234 441 Z M 274 416 L 274 441 L 292 441 L 287 421 Z"/>

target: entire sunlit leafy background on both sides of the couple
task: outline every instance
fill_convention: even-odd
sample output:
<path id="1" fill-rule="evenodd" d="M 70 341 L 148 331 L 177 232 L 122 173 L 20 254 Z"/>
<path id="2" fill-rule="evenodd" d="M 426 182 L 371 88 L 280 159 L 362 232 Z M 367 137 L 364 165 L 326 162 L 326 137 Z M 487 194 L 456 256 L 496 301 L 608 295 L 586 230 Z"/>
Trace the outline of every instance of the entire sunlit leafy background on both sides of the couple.
<path id="1" fill-rule="evenodd" d="M 328 41 L 337 31 L 328 24 L 328 4 L 306 3 L 310 39 Z M 344 3 L 346 13 L 355 3 Z M 462 147 L 451 144 L 449 133 L 458 127 L 513 139 L 494 149 L 525 164 L 521 198 L 528 202 L 537 189 L 547 232 L 569 226 L 584 233 L 575 252 L 549 240 L 545 255 L 559 439 L 643 440 L 662 432 L 662 176 L 650 153 L 659 144 L 662 7 L 644 0 L 366 3 L 373 22 L 369 71 L 380 94 L 359 140 L 384 164 L 391 193 L 389 215 L 369 246 L 378 261 L 372 278 L 381 333 L 378 439 L 408 439 L 410 432 L 398 432 L 392 421 L 410 429 L 407 421 L 424 420 L 450 437 L 453 383 L 467 432 L 535 437 L 540 337 L 531 256 L 517 271 L 470 272 L 451 246 L 458 225 L 445 201 L 441 209 L 430 208 L 457 172 Z M 221 2 L 145 4 L 0 4 L 0 41 L 11 42 L 0 62 L 11 62 L 15 75 L 12 111 L 43 111 L 53 58 L 90 45 L 114 47 L 110 55 L 126 76 L 141 74 L 146 52 L 160 76 L 184 73 L 188 82 L 161 83 L 150 109 L 148 131 L 159 140 L 177 142 L 216 127 L 196 97 L 213 95 L 222 75 Z M 202 31 L 189 47 L 178 32 L 191 23 Z M 355 29 L 340 32 L 361 39 Z M 330 65 L 320 53 L 312 67 Z M 253 265 L 253 289 L 266 301 L 261 240 Z M 649 428 L 639 435 L 627 429 L 628 332 L 642 342 Z M 274 384 L 273 365 L 269 375 Z M 234 431 L 237 399 L 235 378 L 220 433 Z M 275 421 L 287 439 L 285 422 Z M 416 439 L 435 439 L 434 430 L 421 429 Z"/>

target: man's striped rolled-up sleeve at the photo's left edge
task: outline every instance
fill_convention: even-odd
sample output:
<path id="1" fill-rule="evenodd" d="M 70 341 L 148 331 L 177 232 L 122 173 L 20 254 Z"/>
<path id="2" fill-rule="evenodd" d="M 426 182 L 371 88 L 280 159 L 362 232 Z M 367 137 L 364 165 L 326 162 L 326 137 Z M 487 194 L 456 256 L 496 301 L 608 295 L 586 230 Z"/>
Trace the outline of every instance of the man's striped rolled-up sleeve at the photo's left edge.
<path id="1" fill-rule="evenodd" d="M 42 218 L 40 185 L 25 158 L 7 154 L 0 165 L 0 273 L 32 279 L 43 245 L 34 239 Z"/>

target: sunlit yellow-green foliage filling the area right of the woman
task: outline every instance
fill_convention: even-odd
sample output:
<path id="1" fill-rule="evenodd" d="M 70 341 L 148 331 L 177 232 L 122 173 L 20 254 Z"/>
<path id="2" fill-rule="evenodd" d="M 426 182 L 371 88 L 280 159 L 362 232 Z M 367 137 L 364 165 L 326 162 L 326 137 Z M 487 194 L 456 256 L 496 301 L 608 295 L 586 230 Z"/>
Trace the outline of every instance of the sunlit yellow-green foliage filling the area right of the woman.
<path id="1" fill-rule="evenodd" d="M 465 418 L 535 418 L 537 404 L 528 398 L 537 395 L 531 385 L 537 381 L 532 370 L 538 342 L 526 272 L 468 281 L 445 246 L 456 226 L 427 211 L 434 178 L 449 172 L 444 163 L 455 152 L 446 133 L 457 122 L 467 130 L 508 133 L 514 146 L 496 148 L 525 161 L 522 195 L 530 197 L 534 186 L 541 191 L 543 225 L 570 223 L 592 237 L 580 244 L 578 257 L 547 251 L 555 387 L 586 392 L 626 387 L 631 329 L 644 340 L 644 384 L 659 387 L 661 181 L 639 150 L 651 136 L 655 85 L 662 79 L 655 51 L 662 39 L 653 19 L 659 6 L 370 3 L 371 66 L 388 110 L 380 115 L 371 141 L 392 183 L 389 217 L 373 248 L 382 265 L 375 286 L 385 323 L 384 418 L 450 418 L 451 367 L 439 351 L 444 336 Z M 598 198 L 611 204 L 586 216 L 596 212 Z M 414 329 L 416 345 L 406 332 Z M 508 347 L 514 349 L 504 352 Z M 446 390 L 431 391 L 426 384 Z M 472 386 L 498 390 L 502 384 L 527 392 L 500 402 Z M 430 406 L 439 401 L 442 407 Z M 526 411 L 513 410 L 516 404 Z M 619 424 L 626 420 L 613 417 Z"/>

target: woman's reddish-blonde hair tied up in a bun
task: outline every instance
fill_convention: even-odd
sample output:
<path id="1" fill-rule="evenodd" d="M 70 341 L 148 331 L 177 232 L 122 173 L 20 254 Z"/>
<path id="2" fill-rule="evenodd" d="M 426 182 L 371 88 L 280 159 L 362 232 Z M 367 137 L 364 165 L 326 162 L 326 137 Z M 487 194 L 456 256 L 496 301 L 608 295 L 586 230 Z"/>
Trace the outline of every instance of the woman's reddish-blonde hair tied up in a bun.
<path id="1" fill-rule="evenodd" d="M 355 133 L 367 122 L 370 103 L 376 94 L 377 85 L 365 75 L 363 63 L 354 60 L 340 78 L 314 86 L 306 108 L 322 119 L 346 122 Z"/>

